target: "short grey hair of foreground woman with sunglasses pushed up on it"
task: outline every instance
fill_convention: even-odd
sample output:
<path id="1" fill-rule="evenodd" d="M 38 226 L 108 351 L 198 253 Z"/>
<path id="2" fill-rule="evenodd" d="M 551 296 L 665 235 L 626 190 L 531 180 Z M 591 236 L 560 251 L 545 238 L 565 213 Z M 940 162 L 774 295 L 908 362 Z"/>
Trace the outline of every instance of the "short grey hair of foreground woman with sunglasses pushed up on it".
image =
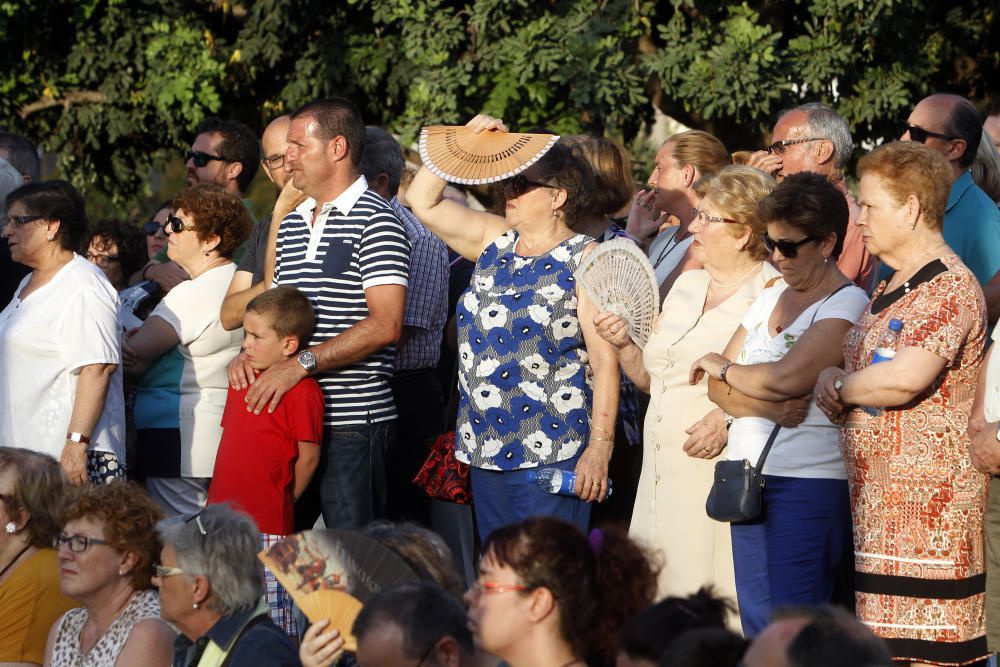
<path id="1" fill-rule="evenodd" d="M 260 602 L 264 595 L 264 566 L 257 558 L 260 531 L 249 516 L 228 505 L 209 505 L 193 517 L 164 519 L 156 531 L 177 552 L 177 565 L 186 575 L 208 579 L 209 609 L 229 616 Z"/>

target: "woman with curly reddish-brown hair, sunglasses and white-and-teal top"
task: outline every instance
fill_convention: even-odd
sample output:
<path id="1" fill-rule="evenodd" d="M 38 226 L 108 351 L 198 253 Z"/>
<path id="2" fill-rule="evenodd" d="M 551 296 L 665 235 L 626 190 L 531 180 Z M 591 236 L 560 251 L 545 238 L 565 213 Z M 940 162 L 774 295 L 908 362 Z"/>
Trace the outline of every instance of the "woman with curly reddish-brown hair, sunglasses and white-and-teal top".
<path id="1" fill-rule="evenodd" d="M 250 233 L 243 203 L 211 185 L 184 190 L 167 218 L 167 254 L 191 276 L 125 337 L 125 370 L 139 378 L 138 471 L 168 514 L 204 507 L 222 437 L 226 369 L 243 330 L 219 309 L 236 271 L 233 251 Z"/>

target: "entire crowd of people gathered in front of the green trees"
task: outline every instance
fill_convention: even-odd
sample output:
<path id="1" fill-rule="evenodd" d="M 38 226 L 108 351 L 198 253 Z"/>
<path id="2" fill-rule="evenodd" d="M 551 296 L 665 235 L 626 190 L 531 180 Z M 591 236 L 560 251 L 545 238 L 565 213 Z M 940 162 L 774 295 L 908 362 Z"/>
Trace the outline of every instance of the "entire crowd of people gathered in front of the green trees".
<path id="1" fill-rule="evenodd" d="M 932 95 L 849 174 L 808 103 L 763 150 L 669 137 L 645 188 L 562 137 L 483 208 L 328 98 L 207 119 L 141 225 L 0 133 L 0 663 L 987 664 L 985 122 Z M 577 284 L 612 239 L 659 284 L 648 341 Z M 759 513 L 709 516 L 720 461 Z M 419 581 L 310 624 L 257 554 L 317 525 Z"/>

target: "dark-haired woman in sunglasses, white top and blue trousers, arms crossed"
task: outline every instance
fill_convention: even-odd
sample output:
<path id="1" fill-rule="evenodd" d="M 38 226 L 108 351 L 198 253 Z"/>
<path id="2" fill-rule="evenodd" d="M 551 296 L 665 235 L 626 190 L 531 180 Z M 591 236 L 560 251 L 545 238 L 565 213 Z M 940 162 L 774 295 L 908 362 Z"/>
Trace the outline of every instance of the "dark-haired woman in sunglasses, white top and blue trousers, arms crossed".
<path id="1" fill-rule="evenodd" d="M 711 377 L 709 398 L 735 419 L 725 456 L 764 464 L 764 510 L 731 525 L 743 632 L 756 636 L 774 607 L 822 604 L 833 595 L 850 549 L 847 471 L 838 431 L 810 402 L 794 428 L 767 417 L 775 402 L 811 394 L 820 371 L 843 361 L 840 341 L 867 295 L 837 268 L 847 202 L 825 177 L 785 177 L 761 200 L 765 247 L 783 280 L 750 306 L 723 354 L 691 366 L 692 384 Z M 777 429 L 775 433 L 775 429 Z"/>

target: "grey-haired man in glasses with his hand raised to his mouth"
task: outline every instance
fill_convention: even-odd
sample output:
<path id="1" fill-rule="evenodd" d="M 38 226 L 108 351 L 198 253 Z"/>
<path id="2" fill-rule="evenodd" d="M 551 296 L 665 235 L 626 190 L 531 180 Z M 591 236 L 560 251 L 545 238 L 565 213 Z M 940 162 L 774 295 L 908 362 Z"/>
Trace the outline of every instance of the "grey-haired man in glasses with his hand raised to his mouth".
<path id="1" fill-rule="evenodd" d="M 774 125 L 772 141 L 766 150 L 751 156 L 750 166 L 773 174 L 778 182 L 785 176 L 811 171 L 833 183 L 847 199 L 850 212 L 837 267 L 858 287 L 870 291 L 877 262 L 855 224 L 861 209 L 844 183 L 844 167 L 854 151 L 851 128 L 836 111 L 812 102 L 783 113 Z"/>

